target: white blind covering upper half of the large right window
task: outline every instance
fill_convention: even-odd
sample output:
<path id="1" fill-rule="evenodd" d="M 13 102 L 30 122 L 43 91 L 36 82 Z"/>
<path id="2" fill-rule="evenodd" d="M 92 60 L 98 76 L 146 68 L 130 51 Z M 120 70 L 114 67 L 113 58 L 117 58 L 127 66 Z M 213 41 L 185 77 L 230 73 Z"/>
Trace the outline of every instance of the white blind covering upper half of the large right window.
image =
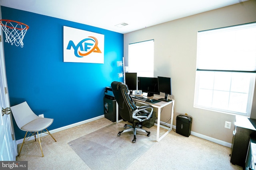
<path id="1" fill-rule="evenodd" d="M 256 23 L 198 32 L 197 69 L 256 72 Z"/>

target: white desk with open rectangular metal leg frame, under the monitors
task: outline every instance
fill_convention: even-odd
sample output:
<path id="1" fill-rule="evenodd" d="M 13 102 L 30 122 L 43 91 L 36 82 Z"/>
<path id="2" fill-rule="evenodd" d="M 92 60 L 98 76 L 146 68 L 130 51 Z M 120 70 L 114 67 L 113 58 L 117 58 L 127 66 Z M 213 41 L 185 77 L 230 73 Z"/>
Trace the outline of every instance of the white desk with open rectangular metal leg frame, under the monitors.
<path id="1" fill-rule="evenodd" d="M 155 95 L 152 96 L 152 97 L 145 97 L 144 98 L 150 98 L 150 99 L 160 99 L 160 98 L 164 98 L 164 96 L 160 96 L 160 95 Z M 134 99 L 134 102 L 137 102 L 137 103 L 140 103 L 140 104 L 149 104 L 153 107 L 156 107 L 158 110 L 157 110 L 157 131 L 156 131 L 156 141 L 159 142 L 161 139 L 163 139 L 168 133 L 170 133 L 170 131 L 172 131 L 172 124 L 173 124 L 173 115 L 174 115 L 174 100 L 172 100 L 172 102 L 158 102 L 158 103 L 155 103 L 155 104 L 152 104 L 152 103 L 148 103 L 148 102 L 145 102 L 143 100 L 138 100 L 138 99 Z M 161 108 L 169 105 L 169 104 L 172 104 L 172 111 L 171 112 L 171 123 L 170 123 L 170 128 L 168 127 L 164 127 L 162 125 L 160 125 L 160 117 L 161 117 Z M 118 121 L 118 104 L 116 103 L 116 122 L 120 122 L 122 120 L 119 120 Z M 159 131 L 160 131 L 160 127 L 164 127 L 166 129 L 168 129 L 168 131 L 166 133 L 164 133 L 164 135 L 162 135 L 161 137 L 159 137 Z"/>

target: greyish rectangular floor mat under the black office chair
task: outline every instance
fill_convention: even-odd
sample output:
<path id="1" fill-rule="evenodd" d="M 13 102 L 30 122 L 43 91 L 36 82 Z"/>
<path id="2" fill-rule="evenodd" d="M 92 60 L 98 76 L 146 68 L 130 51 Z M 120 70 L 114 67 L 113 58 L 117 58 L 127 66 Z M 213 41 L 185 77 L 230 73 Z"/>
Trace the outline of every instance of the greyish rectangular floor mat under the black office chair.
<path id="1" fill-rule="evenodd" d="M 118 131 L 124 130 L 123 125 L 113 123 L 68 144 L 93 170 L 126 169 L 156 141 L 140 131 L 137 131 L 136 143 L 132 143 L 132 132 L 122 133 L 118 137 Z M 118 161 L 113 161 L 117 155 Z"/>

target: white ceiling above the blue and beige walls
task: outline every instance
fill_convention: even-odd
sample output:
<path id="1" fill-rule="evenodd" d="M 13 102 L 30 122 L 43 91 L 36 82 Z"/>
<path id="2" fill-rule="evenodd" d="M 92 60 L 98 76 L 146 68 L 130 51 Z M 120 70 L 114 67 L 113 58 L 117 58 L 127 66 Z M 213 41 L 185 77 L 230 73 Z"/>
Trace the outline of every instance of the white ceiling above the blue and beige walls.
<path id="1" fill-rule="evenodd" d="M 118 33 L 129 33 L 244 1 L 247 0 L 0 0 L 0 4 Z M 123 22 L 128 25 L 121 28 L 115 26 Z"/>

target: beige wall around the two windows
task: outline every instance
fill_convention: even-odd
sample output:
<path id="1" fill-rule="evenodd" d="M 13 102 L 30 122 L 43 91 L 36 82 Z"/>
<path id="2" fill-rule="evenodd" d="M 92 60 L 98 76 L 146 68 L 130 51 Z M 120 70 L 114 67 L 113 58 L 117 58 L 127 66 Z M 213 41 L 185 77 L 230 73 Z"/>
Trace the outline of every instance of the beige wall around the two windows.
<path id="1" fill-rule="evenodd" d="M 176 116 L 188 113 L 192 131 L 232 143 L 235 116 L 194 108 L 197 32 L 256 21 L 256 0 L 194 16 L 181 18 L 124 34 L 124 63 L 128 65 L 128 44 L 154 39 L 154 76 L 172 78 Z M 145 56 L 146 59 L 146 56 Z M 255 95 L 256 96 L 256 93 Z M 256 100 L 252 111 L 256 110 Z M 251 117 L 256 117 L 256 113 Z M 224 128 L 231 121 L 231 129 Z"/>

